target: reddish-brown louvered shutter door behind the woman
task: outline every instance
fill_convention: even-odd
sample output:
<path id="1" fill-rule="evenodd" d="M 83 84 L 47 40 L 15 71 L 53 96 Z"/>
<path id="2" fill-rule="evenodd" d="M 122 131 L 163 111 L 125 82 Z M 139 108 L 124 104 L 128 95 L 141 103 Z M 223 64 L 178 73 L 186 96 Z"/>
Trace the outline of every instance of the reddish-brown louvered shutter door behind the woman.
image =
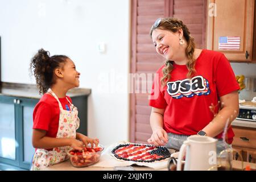
<path id="1" fill-rule="evenodd" d="M 131 22 L 131 73 L 139 76 L 154 74 L 164 64 L 164 59 L 157 55 L 152 45 L 149 32 L 156 19 L 167 16 L 174 16 L 187 24 L 191 35 L 196 40 L 198 48 L 204 47 L 205 42 L 205 1 L 204 0 L 133 0 L 132 1 L 132 22 Z M 140 75 L 142 74 L 142 75 Z M 142 89 L 142 84 L 147 82 L 147 87 L 152 81 L 135 78 L 133 81 L 140 81 L 140 88 L 130 90 L 130 142 L 147 143 L 152 130 L 150 127 L 151 107 L 148 106 L 148 94 L 150 89 Z M 144 91 L 144 92 L 143 92 Z"/>

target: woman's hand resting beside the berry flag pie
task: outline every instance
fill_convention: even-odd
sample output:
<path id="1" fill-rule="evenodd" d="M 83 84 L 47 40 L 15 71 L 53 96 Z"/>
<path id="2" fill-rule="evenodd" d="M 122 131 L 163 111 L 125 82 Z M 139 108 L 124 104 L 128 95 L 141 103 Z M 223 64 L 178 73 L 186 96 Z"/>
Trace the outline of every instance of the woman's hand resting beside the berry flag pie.
<path id="1" fill-rule="evenodd" d="M 168 142 L 168 135 L 164 129 L 159 127 L 154 130 L 151 137 L 147 140 L 148 143 L 155 146 L 165 146 Z"/>

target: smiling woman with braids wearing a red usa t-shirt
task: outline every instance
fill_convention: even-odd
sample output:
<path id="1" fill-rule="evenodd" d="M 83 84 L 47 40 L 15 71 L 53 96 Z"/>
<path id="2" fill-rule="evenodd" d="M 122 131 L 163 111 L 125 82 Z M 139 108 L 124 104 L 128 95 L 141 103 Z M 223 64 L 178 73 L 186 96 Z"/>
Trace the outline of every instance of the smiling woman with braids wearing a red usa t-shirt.
<path id="1" fill-rule="evenodd" d="M 166 62 L 152 88 L 148 143 L 179 150 L 197 134 L 217 138 L 217 152 L 224 150 L 222 132 L 228 124 L 225 138 L 231 144 L 230 123 L 238 113 L 239 85 L 229 61 L 223 53 L 196 49 L 187 26 L 175 18 L 157 19 L 150 36 Z"/>

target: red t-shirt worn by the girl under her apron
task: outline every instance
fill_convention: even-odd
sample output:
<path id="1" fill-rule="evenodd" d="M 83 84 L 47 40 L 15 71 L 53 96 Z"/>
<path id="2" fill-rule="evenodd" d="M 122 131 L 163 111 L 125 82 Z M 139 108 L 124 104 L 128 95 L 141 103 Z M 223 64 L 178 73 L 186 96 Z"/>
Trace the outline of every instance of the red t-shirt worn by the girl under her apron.
<path id="1" fill-rule="evenodd" d="M 70 97 L 68 100 L 72 103 Z M 59 101 L 65 110 L 70 110 L 70 104 L 67 98 L 59 98 Z M 59 129 L 60 107 L 57 100 L 51 94 L 44 94 L 33 112 L 33 129 L 45 130 L 46 137 L 56 138 Z"/>

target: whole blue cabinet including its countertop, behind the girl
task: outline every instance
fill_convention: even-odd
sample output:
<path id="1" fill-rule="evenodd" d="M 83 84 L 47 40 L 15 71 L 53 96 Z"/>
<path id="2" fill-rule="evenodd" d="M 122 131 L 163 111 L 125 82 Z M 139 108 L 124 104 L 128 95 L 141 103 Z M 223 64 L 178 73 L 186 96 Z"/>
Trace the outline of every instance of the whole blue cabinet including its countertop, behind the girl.
<path id="1" fill-rule="evenodd" d="M 77 132 L 87 135 L 87 101 L 90 89 L 72 89 L 67 95 L 79 111 Z M 33 111 L 41 96 L 35 85 L 0 84 L 0 170 L 29 169 L 32 146 Z"/>

